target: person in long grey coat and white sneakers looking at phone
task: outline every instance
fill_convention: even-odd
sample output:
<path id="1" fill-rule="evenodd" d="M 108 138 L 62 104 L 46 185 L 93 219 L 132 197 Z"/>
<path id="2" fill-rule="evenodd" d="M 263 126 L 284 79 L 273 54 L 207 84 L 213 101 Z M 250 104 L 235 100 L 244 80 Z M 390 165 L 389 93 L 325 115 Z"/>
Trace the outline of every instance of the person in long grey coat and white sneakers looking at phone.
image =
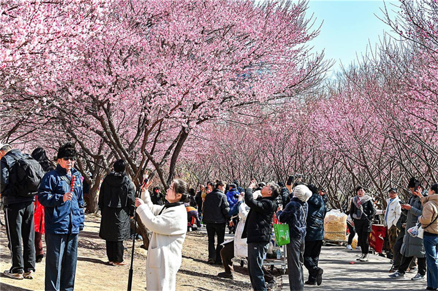
<path id="1" fill-rule="evenodd" d="M 406 230 L 417 224 L 418 217 L 421 216 L 421 212 L 423 210 L 423 206 L 421 204 L 421 198 L 423 197 L 423 194 L 421 193 L 420 181 L 415 178 L 411 178 L 407 187 L 412 195 L 410 195 L 407 204 L 403 204 L 401 206 L 402 215 L 406 216 Z M 414 238 L 410 236 L 406 231 L 403 237 L 403 245 L 401 246 L 400 253 L 403 255 L 400 266 L 397 272 L 389 275 L 389 277 L 393 279 L 404 278 L 404 274 L 406 273 L 410 262 L 414 257 L 417 257 L 418 273 L 411 280 L 425 280 L 426 251 L 424 250 L 423 240 L 418 237 Z"/>

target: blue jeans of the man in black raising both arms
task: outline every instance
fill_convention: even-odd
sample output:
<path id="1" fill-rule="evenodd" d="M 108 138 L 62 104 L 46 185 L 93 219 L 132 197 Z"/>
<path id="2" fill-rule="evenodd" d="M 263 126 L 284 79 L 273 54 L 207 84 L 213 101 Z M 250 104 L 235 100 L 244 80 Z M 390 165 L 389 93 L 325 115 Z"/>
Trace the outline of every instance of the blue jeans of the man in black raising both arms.
<path id="1" fill-rule="evenodd" d="M 248 244 L 248 273 L 250 274 L 251 285 L 256 291 L 266 291 L 264 278 L 263 258 L 268 252 L 269 243 L 249 243 Z"/>

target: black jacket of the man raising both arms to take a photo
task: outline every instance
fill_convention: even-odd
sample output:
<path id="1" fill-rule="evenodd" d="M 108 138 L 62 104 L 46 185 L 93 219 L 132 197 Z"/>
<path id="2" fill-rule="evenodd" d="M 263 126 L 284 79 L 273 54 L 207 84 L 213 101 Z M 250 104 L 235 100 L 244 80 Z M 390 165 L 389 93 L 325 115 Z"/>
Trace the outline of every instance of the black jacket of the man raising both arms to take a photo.
<path id="1" fill-rule="evenodd" d="M 253 189 L 248 188 L 245 191 L 245 203 L 250 208 L 250 212 L 243 227 L 242 239 L 248 238 L 247 243 L 269 242 L 272 218 L 277 209 L 275 198 L 259 197 L 254 200 Z"/>

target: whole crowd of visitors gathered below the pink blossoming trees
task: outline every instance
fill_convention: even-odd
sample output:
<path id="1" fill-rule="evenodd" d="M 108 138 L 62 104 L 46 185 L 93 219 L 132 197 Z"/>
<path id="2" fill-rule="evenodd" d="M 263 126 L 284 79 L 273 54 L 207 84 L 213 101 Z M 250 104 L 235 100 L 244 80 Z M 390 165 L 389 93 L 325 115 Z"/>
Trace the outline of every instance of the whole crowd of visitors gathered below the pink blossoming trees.
<path id="1" fill-rule="evenodd" d="M 0 144 L 0 158 L 0 193 L 12 263 L 4 275 L 33 279 L 36 263 L 45 257 L 45 289 L 73 290 L 78 234 L 85 220 L 84 183 L 74 167 L 74 145 L 62 145 L 56 163 L 41 148 L 25 155 L 9 144 Z M 137 216 L 152 231 L 146 261 L 148 290 L 176 289 L 186 232 L 202 225 L 208 237 L 206 263 L 224 267 L 218 277 L 233 279 L 232 259 L 245 257 L 254 290 L 273 288 L 276 280 L 264 267 L 264 259 L 276 219 L 289 226 L 286 253 L 290 289 L 303 290 L 305 285 L 322 283 L 319 256 L 328 207 L 324 189 L 302 182 L 255 180 L 243 189 L 238 181 L 227 184 L 216 180 L 200 185 L 196 192 L 185 181 L 174 179 L 166 195 L 158 187 L 150 193 L 153 181 L 145 181 L 139 188 L 140 197 L 136 197 L 135 186 L 125 170 L 124 160 L 119 159 L 102 181 L 98 197 L 102 216 L 99 236 L 106 243 L 107 264 L 124 266 L 123 242 L 132 237 L 132 219 Z M 412 280 L 427 278 L 427 290 L 436 290 L 438 185 L 423 189 L 420 181 L 412 178 L 408 189 L 412 194 L 405 203 L 398 197 L 397 188 L 391 188 L 387 207 L 381 211 L 394 261 L 390 278 L 403 278 L 408 269 L 414 270 L 418 265 Z M 368 238 L 378 211 L 365 187 L 355 188 L 345 212 L 350 233 L 347 249 L 352 249 L 357 234 L 357 249 L 362 253 L 358 260 L 369 261 Z M 227 227 L 233 238 L 225 241 Z M 303 266 L 308 270 L 307 280 Z"/>

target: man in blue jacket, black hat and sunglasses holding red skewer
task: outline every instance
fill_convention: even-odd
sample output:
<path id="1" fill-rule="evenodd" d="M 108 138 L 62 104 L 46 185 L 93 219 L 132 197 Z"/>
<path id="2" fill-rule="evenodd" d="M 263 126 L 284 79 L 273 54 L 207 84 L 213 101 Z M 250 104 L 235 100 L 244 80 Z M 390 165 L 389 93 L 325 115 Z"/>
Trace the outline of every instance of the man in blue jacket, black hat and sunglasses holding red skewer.
<path id="1" fill-rule="evenodd" d="M 77 237 L 84 228 L 83 185 L 80 172 L 74 168 L 76 156 L 73 144 L 64 144 L 58 151 L 58 166 L 44 175 L 38 191 L 38 200 L 45 208 L 45 290 L 74 289 Z"/>

